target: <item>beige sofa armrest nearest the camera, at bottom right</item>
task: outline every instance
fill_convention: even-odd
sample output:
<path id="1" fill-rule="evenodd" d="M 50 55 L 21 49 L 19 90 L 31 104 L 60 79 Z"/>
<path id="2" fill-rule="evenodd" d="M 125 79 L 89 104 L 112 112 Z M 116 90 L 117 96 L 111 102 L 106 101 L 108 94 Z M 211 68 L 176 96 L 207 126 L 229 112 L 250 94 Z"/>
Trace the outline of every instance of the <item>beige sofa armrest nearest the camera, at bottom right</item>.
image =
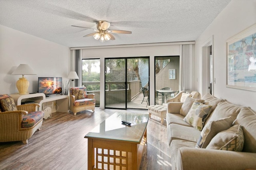
<path id="1" fill-rule="evenodd" d="M 177 157 L 177 169 L 255 169 L 256 153 L 227 150 L 180 148 Z"/>

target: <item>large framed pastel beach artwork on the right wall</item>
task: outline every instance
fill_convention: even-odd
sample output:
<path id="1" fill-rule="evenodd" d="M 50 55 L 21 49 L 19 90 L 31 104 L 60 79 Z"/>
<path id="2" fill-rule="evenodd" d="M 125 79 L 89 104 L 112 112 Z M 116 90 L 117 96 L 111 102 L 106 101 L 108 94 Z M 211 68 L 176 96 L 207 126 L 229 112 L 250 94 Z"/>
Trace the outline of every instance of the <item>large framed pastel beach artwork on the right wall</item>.
<path id="1" fill-rule="evenodd" d="M 256 91 L 256 24 L 227 40 L 226 87 Z"/>

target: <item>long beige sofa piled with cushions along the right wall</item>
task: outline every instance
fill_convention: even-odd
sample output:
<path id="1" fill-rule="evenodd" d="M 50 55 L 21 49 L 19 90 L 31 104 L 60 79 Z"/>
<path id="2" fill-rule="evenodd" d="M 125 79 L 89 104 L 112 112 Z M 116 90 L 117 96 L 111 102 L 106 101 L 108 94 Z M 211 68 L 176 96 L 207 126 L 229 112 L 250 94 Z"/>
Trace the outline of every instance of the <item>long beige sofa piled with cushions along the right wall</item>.
<path id="1" fill-rule="evenodd" d="M 168 103 L 166 124 L 172 170 L 256 169 L 256 112 L 250 107 L 206 94 Z"/>

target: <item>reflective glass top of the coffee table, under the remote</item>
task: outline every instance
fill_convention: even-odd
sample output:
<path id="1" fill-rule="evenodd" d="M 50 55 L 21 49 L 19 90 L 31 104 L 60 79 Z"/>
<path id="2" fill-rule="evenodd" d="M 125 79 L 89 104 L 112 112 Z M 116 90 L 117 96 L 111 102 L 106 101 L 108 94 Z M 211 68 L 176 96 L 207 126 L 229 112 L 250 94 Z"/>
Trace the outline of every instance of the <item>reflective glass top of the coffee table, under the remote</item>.
<path id="1" fill-rule="evenodd" d="M 132 123 L 126 125 L 122 120 Z M 121 140 L 140 143 L 148 124 L 148 114 L 114 113 L 92 129 L 85 138 Z"/>

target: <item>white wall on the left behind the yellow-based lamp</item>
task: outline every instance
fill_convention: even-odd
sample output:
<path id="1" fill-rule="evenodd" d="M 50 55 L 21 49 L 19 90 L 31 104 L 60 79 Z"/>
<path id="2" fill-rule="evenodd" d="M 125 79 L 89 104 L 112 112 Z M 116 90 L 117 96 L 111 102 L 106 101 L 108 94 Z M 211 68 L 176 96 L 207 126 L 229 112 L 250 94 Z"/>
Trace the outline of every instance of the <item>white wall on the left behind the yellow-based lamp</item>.
<path id="1" fill-rule="evenodd" d="M 18 93 L 11 75 L 19 64 L 28 64 L 37 75 L 25 75 L 28 92 L 37 92 L 38 77 L 59 76 L 64 81 L 70 72 L 70 48 L 0 25 L 0 94 Z"/>

